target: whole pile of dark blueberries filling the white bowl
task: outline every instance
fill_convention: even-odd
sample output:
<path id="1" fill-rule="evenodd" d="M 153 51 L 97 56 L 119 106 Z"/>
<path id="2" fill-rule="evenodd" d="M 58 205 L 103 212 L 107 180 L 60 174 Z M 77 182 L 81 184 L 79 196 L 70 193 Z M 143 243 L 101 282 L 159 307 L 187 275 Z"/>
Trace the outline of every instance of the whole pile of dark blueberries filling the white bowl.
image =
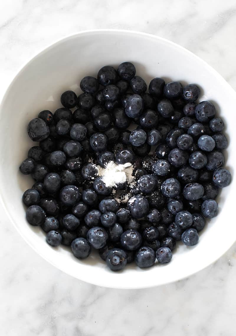
<path id="1" fill-rule="evenodd" d="M 62 108 L 30 121 L 39 145 L 20 165 L 35 180 L 22 197 L 27 221 L 79 259 L 98 250 L 112 270 L 133 260 L 168 263 L 176 241 L 197 244 L 205 217 L 218 213 L 219 188 L 231 180 L 222 168 L 224 122 L 211 102 L 197 102 L 198 86 L 154 78 L 147 93 L 135 74 L 130 62 L 104 66 L 81 80 L 78 97 L 62 93 Z M 97 165 L 110 161 L 133 164 L 132 187 L 105 185 Z"/>

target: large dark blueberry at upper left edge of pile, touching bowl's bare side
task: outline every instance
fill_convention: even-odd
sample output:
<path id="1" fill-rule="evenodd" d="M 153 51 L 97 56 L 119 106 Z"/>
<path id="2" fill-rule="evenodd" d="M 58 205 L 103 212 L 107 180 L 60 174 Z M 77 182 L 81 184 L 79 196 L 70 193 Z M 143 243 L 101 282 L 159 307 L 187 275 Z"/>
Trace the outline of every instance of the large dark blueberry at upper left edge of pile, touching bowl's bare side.
<path id="1" fill-rule="evenodd" d="M 42 141 L 49 136 L 49 127 L 43 119 L 35 118 L 29 122 L 28 134 L 33 141 Z"/>

